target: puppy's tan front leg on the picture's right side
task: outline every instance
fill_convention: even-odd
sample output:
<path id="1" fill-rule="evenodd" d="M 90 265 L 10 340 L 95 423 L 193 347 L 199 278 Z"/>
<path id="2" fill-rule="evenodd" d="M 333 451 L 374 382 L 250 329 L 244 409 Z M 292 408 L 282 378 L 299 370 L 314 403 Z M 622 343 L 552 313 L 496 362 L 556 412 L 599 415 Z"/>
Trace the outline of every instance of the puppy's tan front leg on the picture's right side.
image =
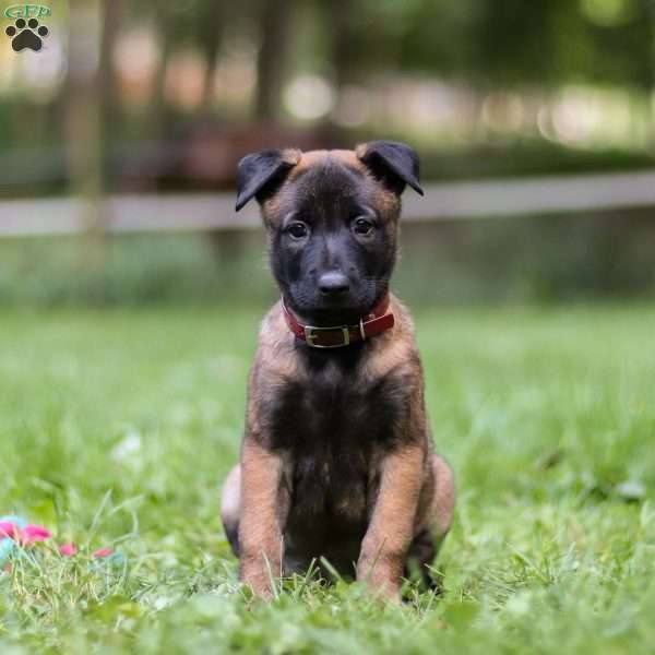
<path id="1" fill-rule="evenodd" d="M 424 452 L 409 445 L 382 462 L 380 490 L 361 543 L 357 580 L 398 600 L 422 485 Z"/>

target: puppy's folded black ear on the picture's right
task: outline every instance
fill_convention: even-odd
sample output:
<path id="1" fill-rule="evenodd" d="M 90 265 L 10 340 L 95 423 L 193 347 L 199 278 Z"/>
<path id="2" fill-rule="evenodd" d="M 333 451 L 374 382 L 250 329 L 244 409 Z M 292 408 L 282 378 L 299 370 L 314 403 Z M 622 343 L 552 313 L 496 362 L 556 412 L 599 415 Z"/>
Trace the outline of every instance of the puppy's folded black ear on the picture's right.
<path id="1" fill-rule="evenodd" d="M 420 188 L 420 163 L 414 148 L 396 141 L 371 141 L 362 143 L 355 154 L 369 170 L 398 195 L 409 184 L 417 193 Z"/>

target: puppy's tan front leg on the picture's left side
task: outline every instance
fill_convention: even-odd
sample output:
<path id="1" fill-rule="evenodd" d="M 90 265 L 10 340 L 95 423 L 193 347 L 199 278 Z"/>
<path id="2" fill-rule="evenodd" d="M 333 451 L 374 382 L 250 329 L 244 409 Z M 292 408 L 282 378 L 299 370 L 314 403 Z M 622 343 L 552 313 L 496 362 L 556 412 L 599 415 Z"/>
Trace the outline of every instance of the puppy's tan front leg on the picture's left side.
<path id="1" fill-rule="evenodd" d="M 264 598 L 273 595 L 272 576 L 282 569 L 282 523 L 288 508 L 283 499 L 283 460 L 253 440 L 241 453 L 239 577 Z"/>

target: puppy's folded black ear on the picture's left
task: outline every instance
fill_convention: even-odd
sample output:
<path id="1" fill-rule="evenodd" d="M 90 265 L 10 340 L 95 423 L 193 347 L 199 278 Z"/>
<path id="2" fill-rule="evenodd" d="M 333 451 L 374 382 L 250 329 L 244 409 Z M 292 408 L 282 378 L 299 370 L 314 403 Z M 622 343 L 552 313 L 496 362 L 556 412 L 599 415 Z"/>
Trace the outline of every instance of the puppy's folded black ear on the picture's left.
<path id="1" fill-rule="evenodd" d="M 258 200 L 300 162 L 298 150 L 270 150 L 246 155 L 237 170 L 237 212 L 253 196 Z"/>

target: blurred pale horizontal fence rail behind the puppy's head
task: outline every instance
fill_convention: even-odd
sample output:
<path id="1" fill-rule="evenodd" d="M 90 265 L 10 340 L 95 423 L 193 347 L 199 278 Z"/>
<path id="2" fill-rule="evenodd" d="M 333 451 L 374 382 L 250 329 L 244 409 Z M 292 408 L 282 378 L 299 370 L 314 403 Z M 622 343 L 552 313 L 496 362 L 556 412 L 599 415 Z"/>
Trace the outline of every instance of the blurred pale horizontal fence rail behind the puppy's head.
<path id="1" fill-rule="evenodd" d="M 255 228 L 254 203 L 236 214 L 234 193 L 123 194 L 104 199 L 110 233 Z M 498 218 L 655 207 L 655 171 L 428 184 L 425 198 L 404 196 L 405 221 Z M 83 233 L 76 198 L 0 201 L 0 237 Z"/>

